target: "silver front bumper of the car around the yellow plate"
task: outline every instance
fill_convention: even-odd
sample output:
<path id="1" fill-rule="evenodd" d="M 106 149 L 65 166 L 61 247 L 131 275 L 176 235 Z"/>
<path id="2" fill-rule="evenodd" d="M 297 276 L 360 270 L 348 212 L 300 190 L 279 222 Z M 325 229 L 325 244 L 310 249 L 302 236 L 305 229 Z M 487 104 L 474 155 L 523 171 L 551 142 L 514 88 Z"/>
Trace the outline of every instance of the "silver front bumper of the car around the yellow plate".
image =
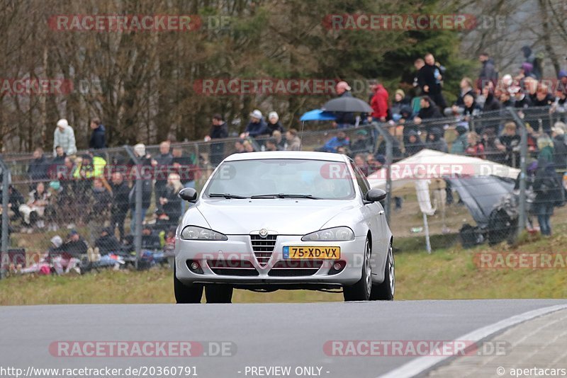
<path id="1" fill-rule="evenodd" d="M 266 265 L 258 262 L 249 235 L 229 235 L 227 241 L 188 241 L 176 239 L 175 264 L 176 276 L 186 285 L 193 283 L 225 283 L 235 287 L 341 287 L 342 285 L 353 285 L 360 280 L 362 259 L 364 258 L 365 236 L 356 237 L 352 241 L 326 241 L 305 242 L 302 236 L 279 235 L 276 238 L 274 250 Z M 297 265 L 300 269 L 283 272 L 278 270 L 279 262 L 288 261 L 283 258 L 283 246 L 339 246 L 341 256 L 339 260 L 346 263 L 344 268 L 336 273 L 332 265 L 337 260 L 317 260 L 318 264 Z M 245 261 L 247 269 L 231 270 L 229 274 L 222 269 L 215 268 L 210 264 L 211 260 L 227 261 L 228 267 L 237 268 L 239 261 Z M 203 273 L 195 273 L 189 269 L 188 261 L 198 262 Z M 305 268 L 307 267 L 307 268 Z M 301 268 L 305 268 L 301 270 Z M 276 275 L 275 270 L 278 270 Z M 281 274 L 286 274 L 281 276 Z M 280 287 L 281 286 L 281 287 Z"/>

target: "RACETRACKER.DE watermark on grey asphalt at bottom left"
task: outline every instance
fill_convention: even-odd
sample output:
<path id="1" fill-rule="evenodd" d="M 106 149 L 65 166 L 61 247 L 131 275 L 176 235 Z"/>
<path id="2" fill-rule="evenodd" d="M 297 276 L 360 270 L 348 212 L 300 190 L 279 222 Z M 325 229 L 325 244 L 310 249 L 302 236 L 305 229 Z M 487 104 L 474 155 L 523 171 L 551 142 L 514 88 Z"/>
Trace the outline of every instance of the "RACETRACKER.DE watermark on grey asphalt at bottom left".
<path id="1" fill-rule="evenodd" d="M 237 348 L 232 341 L 65 340 L 48 350 L 53 357 L 232 357 Z"/>

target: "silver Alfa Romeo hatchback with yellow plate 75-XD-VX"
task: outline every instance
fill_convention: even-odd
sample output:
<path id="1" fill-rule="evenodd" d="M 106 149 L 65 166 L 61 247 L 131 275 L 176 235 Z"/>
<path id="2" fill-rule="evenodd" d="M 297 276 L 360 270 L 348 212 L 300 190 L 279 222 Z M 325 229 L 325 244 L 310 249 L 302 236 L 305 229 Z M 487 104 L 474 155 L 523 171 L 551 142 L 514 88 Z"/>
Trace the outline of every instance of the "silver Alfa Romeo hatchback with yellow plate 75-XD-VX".
<path id="1" fill-rule="evenodd" d="M 232 290 L 341 290 L 391 300 L 392 233 L 380 203 L 342 154 L 233 154 L 213 172 L 176 231 L 177 303 L 231 302 Z"/>

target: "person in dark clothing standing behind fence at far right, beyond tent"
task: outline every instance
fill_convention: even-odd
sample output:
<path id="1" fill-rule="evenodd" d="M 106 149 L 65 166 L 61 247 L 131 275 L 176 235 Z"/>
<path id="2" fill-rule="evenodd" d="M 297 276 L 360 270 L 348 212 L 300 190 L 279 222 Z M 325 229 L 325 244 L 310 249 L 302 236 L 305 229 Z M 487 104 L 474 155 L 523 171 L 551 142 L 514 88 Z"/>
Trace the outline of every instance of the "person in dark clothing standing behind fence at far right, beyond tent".
<path id="1" fill-rule="evenodd" d="M 536 197 L 534 199 L 534 212 L 542 235 L 551 235 L 551 215 L 554 214 L 556 201 L 561 197 L 563 188 L 558 183 L 553 164 L 540 157 L 537 160 L 537 171 L 533 185 Z"/>

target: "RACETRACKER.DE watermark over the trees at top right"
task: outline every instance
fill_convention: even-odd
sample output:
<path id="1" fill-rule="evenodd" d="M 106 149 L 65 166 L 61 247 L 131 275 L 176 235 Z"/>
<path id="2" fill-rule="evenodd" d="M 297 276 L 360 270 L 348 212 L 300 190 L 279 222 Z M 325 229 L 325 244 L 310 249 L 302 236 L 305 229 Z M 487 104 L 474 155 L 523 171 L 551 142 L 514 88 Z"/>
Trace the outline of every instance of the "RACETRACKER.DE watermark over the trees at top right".
<path id="1" fill-rule="evenodd" d="M 504 29 L 505 16 L 472 14 L 328 14 L 322 20 L 327 30 L 473 30 Z"/>

